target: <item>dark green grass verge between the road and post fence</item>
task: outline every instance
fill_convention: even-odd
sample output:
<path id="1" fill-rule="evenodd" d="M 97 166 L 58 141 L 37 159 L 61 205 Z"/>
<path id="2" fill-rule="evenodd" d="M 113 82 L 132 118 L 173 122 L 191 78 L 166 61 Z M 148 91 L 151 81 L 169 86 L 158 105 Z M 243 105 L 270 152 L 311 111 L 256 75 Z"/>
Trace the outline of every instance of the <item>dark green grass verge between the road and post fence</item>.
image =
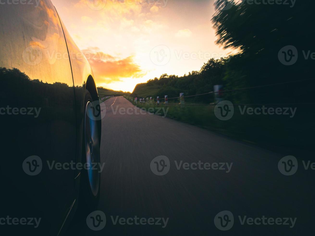
<path id="1" fill-rule="evenodd" d="M 214 114 L 215 105 L 189 106 L 157 104 L 154 101 L 137 104 L 131 102 L 146 110 L 153 108 L 156 115 L 166 116 L 271 150 L 286 151 L 287 155 L 311 151 L 307 148 L 312 147 L 313 142 L 310 138 L 310 133 L 315 131 L 313 116 L 310 117 L 308 114 L 308 117 L 305 117 L 301 107 L 297 109 L 301 112 L 296 112 L 292 119 L 288 115 L 248 115 L 247 113 L 242 115 L 239 107 L 235 106 L 233 117 L 228 121 L 221 121 Z M 164 108 L 166 114 L 158 108 Z M 151 109 L 152 113 L 153 109 Z M 157 114 L 158 110 L 160 114 Z"/>

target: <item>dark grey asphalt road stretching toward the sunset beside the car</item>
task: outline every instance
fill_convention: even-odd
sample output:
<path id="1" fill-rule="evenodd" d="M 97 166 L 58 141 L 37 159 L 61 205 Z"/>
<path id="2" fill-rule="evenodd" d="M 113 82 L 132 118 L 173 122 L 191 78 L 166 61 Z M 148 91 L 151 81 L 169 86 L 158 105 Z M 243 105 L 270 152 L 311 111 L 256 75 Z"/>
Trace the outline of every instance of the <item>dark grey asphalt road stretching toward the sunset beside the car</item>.
<path id="1" fill-rule="evenodd" d="M 97 210 L 105 213 L 106 226 L 93 231 L 84 218 L 69 229 L 69 235 L 304 235 L 312 232 L 315 170 L 305 170 L 302 160 L 312 160 L 313 156 L 296 156 L 297 172 L 285 176 L 278 169 L 283 155 L 159 115 L 141 115 L 123 97 L 113 97 L 105 103 L 108 108 L 102 119 L 100 148 L 105 167 Z M 120 114 L 121 108 L 129 108 L 132 114 Z M 150 164 L 161 155 L 169 159 L 169 171 L 159 176 L 153 173 L 156 171 L 151 170 Z M 189 165 L 196 162 L 191 166 L 196 169 L 184 169 L 183 165 L 178 169 L 180 161 Z M 205 169 L 201 162 L 209 162 L 213 168 Z M 218 167 L 213 165 L 215 162 Z M 222 167 L 225 170 L 216 169 L 222 162 L 227 163 Z M 164 164 L 159 160 L 157 163 Z M 157 166 L 153 162 L 153 170 L 154 167 Z M 234 216 L 234 224 L 227 231 L 219 230 L 214 223 L 215 216 L 223 210 Z M 112 222 L 112 218 L 135 216 L 154 218 L 157 225 L 135 224 L 135 219 L 129 220 L 132 225 L 123 224 L 123 220 L 122 224 L 119 220 L 116 225 Z M 242 225 L 239 217 L 243 221 L 244 216 L 281 218 L 282 223 L 285 218 L 296 220 L 294 226 L 290 219 L 285 224 L 280 224 L 280 220 L 278 224 L 265 220 L 266 225 L 256 220 L 261 222 L 256 225 L 250 220 L 247 223 L 246 218 Z M 157 222 L 159 217 L 165 221 L 169 218 L 167 224 L 163 219 Z"/>

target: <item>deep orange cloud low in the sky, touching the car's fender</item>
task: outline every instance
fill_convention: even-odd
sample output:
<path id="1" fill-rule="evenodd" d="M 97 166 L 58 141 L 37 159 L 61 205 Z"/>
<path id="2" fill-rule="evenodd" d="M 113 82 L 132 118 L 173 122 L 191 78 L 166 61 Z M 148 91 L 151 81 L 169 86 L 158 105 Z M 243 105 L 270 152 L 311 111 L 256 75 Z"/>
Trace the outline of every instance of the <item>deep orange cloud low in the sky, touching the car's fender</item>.
<path id="1" fill-rule="evenodd" d="M 123 78 L 140 78 L 146 75 L 134 62 L 133 56 L 121 59 L 97 50 L 97 47 L 82 50 L 92 67 L 96 83 L 110 84 L 113 81 L 122 81 Z"/>

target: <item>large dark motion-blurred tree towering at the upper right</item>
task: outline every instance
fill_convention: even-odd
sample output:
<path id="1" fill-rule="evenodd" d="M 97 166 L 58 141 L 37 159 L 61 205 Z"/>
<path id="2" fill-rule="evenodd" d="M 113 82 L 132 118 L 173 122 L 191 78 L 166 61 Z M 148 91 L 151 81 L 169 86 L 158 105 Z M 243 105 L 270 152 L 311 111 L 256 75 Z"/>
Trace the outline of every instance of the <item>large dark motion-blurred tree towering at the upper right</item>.
<path id="1" fill-rule="evenodd" d="M 224 48 L 239 49 L 239 55 L 226 63 L 226 85 L 230 89 L 295 81 L 313 77 L 314 60 L 305 60 L 304 51 L 315 52 L 312 42 L 314 1 L 296 1 L 288 4 L 255 4 L 249 1 L 217 0 L 213 16 L 217 30 L 217 43 Z M 298 60 L 286 66 L 279 60 L 279 51 L 292 45 Z M 280 52 L 281 53 L 281 52 Z M 295 85 L 250 90 L 252 102 L 296 102 L 292 97 L 296 89 L 303 90 L 305 82 Z M 313 84 L 312 84 L 312 87 Z"/>

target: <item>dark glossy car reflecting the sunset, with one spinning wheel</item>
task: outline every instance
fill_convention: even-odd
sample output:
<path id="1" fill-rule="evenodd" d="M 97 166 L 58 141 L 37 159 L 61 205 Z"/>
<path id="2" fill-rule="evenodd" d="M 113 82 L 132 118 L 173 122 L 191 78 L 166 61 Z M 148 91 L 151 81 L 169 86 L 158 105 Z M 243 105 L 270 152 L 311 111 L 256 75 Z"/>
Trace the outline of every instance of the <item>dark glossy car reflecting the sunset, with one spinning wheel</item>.
<path id="1" fill-rule="evenodd" d="M 0 5 L 0 235 L 61 235 L 100 198 L 99 96 L 51 1 L 15 3 Z"/>

